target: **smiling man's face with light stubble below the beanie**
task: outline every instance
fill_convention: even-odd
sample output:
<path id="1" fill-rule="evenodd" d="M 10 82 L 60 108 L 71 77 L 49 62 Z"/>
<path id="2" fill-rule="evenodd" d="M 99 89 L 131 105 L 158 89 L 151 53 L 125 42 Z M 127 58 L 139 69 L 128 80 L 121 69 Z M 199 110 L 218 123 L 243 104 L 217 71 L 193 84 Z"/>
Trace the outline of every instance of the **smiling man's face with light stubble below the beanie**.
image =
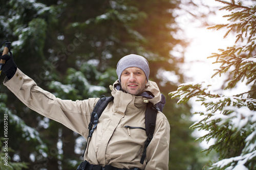
<path id="1" fill-rule="evenodd" d="M 121 74 L 121 87 L 130 94 L 140 94 L 145 89 L 146 82 L 146 75 L 138 67 L 126 68 Z"/>

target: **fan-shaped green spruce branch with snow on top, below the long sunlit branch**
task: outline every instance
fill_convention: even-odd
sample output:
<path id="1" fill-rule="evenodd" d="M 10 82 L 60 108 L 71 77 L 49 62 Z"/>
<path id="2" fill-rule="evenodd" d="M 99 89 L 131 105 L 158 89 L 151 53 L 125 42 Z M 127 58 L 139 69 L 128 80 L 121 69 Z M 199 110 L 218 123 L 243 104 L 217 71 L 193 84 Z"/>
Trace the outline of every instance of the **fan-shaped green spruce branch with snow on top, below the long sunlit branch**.
<path id="1" fill-rule="evenodd" d="M 255 105 L 255 101 L 253 102 Z M 223 110 L 226 110 L 226 114 L 208 113 L 205 118 L 190 127 L 193 129 L 207 130 L 209 132 L 197 140 L 201 139 L 202 141 L 206 140 L 208 142 L 212 138 L 218 139 L 215 144 L 212 144 L 208 149 L 203 150 L 203 152 L 207 152 L 208 154 L 212 149 L 215 149 L 220 153 L 221 159 L 223 159 L 228 156 L 227 154 L 230 148 L 232 148 L 234 152 L 239 152 L 240 147 L 244 146 L 244 138 L 254 132 L 254 130 L 248 130 L 247 126 L 255 122 L 252 118 L 255 114 L 251 112 L 251 119 L 248 119 L 243 115 L 245 113 L 242 111 L 246 107 L 240 106 L 237 108 L 241 108 L 240 113 L 238 112 L 239 114 L 233 112 L 235 111 L 233 107 L 230 107 L 231 110 L 225 107 Z M 236 122 L 240 122 L 240 124 L 234 124 Z M 241 131 L 243 133 L 241 133 Z"/>

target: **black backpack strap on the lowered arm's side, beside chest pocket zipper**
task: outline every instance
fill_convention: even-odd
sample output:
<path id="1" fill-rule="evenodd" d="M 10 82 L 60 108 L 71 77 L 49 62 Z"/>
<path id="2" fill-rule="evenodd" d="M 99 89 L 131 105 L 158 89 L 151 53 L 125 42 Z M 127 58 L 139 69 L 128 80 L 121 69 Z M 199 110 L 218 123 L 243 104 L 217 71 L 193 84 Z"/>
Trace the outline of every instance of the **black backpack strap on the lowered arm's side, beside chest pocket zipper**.
<path id="1" fill-rule="evenodd" d="M 146 127 L 146 134 L 147 134 L 147 139 L 144 143 L 144 151 L 142 153 L 140 163 L 143 164 L 145 157 L 146 157 L 146 148 L 148 144 L 150 144 L 153 134 L 155 131 L 156 127 L 156 119 L 157 119 L 157 112 L 158 110 L 154 107 L 152 103 L 147 103 L 146 107 L 146 113 L 145 113 L 145 127 Z"/>

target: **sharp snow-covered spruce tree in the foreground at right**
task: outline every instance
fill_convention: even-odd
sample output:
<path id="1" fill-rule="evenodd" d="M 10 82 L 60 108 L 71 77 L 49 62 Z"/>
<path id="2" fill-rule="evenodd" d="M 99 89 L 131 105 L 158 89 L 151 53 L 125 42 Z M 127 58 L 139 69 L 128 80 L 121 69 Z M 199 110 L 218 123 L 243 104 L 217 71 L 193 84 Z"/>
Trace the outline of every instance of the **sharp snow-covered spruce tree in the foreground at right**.
<path id="1" fill-rule="evenodd" d="M 249 90 L 225 96 L 212 93 L 209 85 L 192 82 L 181 84 L 169 95 L 172 99 L 179 98 L 178 104 L 195 97 L 205 107 L 205 111 L 195 113 L 202 118 L 191 128 L 208 131 L 199 137 L 201 140 L 217 139 L 204 150 L 206 153 L 216 150 L 220 156 L 209 169 L 256 169 L 256 6 L 244 6 L 234 0 L 215 1 L 225 4 L 220 10 L 230 12 L 224 16 L 230 23 L 208 29 L 225 28 L 224 37 L 233 32 L 237 39 L 235 45 L 208 57 L 216 58 L 215 63 L 221 65 L 212 77 L 227 76 L 225 90 L 236 88 L 239 82 L 245 83 Z"/>

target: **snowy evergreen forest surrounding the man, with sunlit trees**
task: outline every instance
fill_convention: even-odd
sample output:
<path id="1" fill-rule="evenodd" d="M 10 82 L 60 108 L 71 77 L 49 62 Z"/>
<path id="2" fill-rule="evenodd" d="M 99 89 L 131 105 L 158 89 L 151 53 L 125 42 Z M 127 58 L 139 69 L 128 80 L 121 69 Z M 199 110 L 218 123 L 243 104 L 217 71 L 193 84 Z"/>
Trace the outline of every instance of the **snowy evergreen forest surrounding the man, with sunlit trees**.
<path id="1" fill-rule="evenodd" d="M 169 169 L 255 169 L 256 4 L 216 2 L 219 8 L 200 0 L 1 1 L 0 41 L 11 41 L 18 68 L 61 99 L 110 95 L 117 61 L 132 53 L 146 57 L 151 80 L 166 96 Z M 228 21 L 212 26 L 207 17 L 220 8 L 229 13 Z M 182 70 L 190 42 L 184 36 L 188 19 L 236 37 L 232 46 L 205 56 L 216 60 L 215 77 L 224 77 L 219 93 L 206 83 L 188 82 Z M 241 81 L 247 91 L 237 85 Z M 224 89 L 238 92 L 227 96 Z M 196 122 L 190 98 L 205 107 Z M 0 113 L 1 169 L 76 169 L 86 142 L 78 134 L 28 109 L 3 84 Z M 4 114 L 9 166 L 2 160 Z M 195 140 L 194 130 L 208 133 Z M 205 149 L 200 139 L 215 142 Z"/>

